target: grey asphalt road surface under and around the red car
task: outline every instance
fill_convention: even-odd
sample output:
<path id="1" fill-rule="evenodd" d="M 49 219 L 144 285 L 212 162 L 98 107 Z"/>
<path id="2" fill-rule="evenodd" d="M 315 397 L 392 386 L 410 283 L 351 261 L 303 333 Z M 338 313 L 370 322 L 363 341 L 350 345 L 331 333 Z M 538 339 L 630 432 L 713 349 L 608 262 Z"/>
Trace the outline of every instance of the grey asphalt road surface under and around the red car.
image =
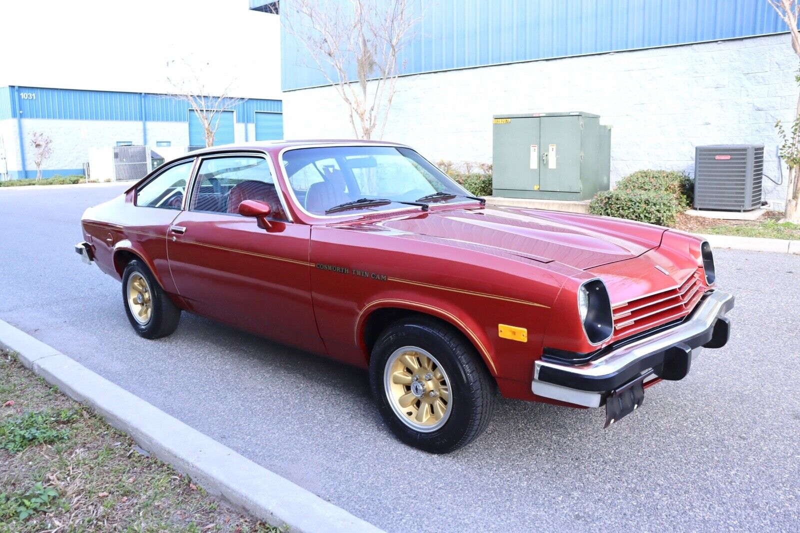
<path id="1" fill-rule="evenodd" d="M 122 186 L 0 189 L 0 318 L 388 531 L 800 529 L 800 256 L 718 250 L 728 347 L 600 410 L 501 400 L 451 455 L 398 443 L 366 373 L 183 314 L 134 334 L 119 283 L 79 261 L 86 206 Z"/>

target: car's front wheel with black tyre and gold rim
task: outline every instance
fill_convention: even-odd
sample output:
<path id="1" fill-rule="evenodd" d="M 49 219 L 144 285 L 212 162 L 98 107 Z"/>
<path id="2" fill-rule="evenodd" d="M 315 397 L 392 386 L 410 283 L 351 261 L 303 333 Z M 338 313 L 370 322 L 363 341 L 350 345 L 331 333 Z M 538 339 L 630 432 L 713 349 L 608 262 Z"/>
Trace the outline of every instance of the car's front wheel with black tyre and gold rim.
<path id="1" fill-rule="evenodd" d="M 474 347 L 433 319 L 394 323 L 375 343 L 370 386 L 398 439 L 431 453 L 466 446 L 489 424 L 496 387 Z"/>

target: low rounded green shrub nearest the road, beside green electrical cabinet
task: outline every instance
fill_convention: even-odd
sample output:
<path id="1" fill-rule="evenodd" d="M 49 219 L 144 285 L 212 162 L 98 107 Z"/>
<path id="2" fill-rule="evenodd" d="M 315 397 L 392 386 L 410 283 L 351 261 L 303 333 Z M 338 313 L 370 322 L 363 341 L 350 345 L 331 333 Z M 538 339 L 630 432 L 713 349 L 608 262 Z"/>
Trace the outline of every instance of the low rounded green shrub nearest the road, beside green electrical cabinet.
<path id="1" fill-rule="evenodd" d="M 678 209 L 675 198 L 665 192 L 614 189 L 595 194 L 589 204 L 589 212 L 658 226 L 672 226 Z"/>

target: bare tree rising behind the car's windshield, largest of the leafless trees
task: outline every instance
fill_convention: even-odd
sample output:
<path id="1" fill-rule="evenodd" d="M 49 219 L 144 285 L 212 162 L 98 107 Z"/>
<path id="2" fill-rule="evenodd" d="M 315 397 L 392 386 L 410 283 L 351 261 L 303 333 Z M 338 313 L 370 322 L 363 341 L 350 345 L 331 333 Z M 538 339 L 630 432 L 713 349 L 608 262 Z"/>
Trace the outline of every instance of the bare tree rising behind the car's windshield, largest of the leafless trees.
<path id="1" fill-rule="evenodd" d="M 292 0 L 285 30 L 334 86 L 357 138 L 382 138 L 398 79 L 398 54 L 419 22 L 413 0 Z"/>

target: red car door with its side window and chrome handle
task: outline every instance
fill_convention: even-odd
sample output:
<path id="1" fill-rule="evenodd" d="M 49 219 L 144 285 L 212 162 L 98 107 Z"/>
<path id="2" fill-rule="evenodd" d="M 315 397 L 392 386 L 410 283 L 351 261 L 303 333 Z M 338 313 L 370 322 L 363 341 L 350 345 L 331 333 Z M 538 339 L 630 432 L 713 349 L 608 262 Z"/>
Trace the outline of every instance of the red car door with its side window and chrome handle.
<path id="1" fill-rule="evenodd" d="M 168 230 L 178 294 L 191 311 L 304 350 L 324 353 L 311 306 L 310 226 L 291 222 L 260 154 L 201 158 L 188 210 Z M 270 228 L 238 214 L 267 202 Z"/>

